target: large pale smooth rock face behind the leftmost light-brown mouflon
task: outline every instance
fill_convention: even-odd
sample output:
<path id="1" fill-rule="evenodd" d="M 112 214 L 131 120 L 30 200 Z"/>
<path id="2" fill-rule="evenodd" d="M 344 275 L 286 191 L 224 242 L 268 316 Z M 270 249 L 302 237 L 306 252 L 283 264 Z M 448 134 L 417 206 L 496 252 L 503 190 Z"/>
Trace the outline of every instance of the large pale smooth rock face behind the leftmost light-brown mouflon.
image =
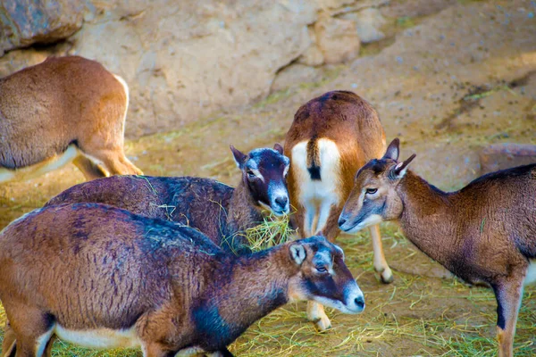
<path id="1" fill-rule="evenodd" d="M 179 129 L 264 97 L 276 72 L 310 46 L 307 24 L 316 16 L 298 0 L 102 6 L 74 47 L 129 83 L 127 137 Z"/>

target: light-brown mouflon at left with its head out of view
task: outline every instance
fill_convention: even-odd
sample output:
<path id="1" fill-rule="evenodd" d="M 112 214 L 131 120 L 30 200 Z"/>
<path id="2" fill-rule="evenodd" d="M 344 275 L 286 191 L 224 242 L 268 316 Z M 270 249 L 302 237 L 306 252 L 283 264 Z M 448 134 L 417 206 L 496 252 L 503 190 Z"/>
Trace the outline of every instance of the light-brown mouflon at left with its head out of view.
<path id="1" fill-rule="evenodd" d="M 68 162 L 86 179 L 141 174 L 125 157 L 129 87 L 98 62 L 51 57 L 0 79 L 0 182 Z"/>

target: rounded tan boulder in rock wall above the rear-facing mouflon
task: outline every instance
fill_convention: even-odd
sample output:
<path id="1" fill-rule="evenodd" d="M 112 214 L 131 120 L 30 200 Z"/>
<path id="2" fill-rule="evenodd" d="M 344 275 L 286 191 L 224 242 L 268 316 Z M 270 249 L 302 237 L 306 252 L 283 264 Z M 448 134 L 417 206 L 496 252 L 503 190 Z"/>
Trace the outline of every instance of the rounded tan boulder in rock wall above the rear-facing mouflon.
<path id="1" fill-rule="evenodd" d="M 352 60 L 359 54 L 361 42 L 353 21 L 336 19 L 323 12 L 314 23 L 314 32 L 325 63 Z"/>

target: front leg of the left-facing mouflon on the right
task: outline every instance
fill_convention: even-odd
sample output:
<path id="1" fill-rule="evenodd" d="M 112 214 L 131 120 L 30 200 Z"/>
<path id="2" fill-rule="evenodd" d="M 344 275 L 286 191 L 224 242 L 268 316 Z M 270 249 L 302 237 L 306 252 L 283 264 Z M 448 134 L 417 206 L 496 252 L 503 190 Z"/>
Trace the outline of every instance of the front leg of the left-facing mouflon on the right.
<path id="1" fill-rule="evenodd" d="M 498 356 L 513 357 L 515 323 L 523 297 L 523 279 L 511 278 L 500 282 L 493 286 L 493 290 L 497 299 Z"/>

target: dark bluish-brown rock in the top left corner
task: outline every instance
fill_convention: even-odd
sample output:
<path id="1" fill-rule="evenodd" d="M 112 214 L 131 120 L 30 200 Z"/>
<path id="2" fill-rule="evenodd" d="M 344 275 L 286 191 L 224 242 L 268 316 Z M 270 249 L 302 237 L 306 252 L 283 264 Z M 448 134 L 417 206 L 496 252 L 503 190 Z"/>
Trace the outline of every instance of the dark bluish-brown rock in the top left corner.
<path id="1" fill-rule="evenodd" d="M 85 0 L 1 0 L 0 55 L 70 37 L 82 26 L 89 6 Z"/>

